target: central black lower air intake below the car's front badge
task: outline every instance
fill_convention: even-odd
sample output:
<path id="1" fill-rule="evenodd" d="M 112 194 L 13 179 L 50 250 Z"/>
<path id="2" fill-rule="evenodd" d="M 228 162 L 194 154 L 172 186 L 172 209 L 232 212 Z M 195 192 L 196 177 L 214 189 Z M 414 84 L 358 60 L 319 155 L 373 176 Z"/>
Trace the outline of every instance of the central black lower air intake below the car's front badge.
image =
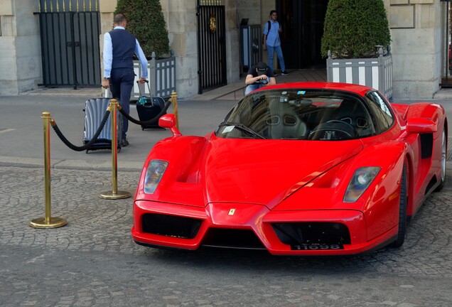
<path id="1" fill-rule="evenodd" d="M 265 249 L 252 230 L 210 228 L 202 242 L 206 247 Z"/>

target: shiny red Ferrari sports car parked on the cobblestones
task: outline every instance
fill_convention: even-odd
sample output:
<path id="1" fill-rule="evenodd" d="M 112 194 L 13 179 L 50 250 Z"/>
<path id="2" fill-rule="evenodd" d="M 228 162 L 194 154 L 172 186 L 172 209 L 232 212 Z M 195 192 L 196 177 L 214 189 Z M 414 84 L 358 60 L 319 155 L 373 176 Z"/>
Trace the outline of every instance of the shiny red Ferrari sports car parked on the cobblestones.
<path id="1" fill-rule="evenodd" d="M 404 242 L 446 173 L 447 120 L 434 103 L 377 90 L 286 83 L 256 90 L 206 136 L 151 150 L 134 198 L 135 242 L 151 247 L 359 254 Z"/>

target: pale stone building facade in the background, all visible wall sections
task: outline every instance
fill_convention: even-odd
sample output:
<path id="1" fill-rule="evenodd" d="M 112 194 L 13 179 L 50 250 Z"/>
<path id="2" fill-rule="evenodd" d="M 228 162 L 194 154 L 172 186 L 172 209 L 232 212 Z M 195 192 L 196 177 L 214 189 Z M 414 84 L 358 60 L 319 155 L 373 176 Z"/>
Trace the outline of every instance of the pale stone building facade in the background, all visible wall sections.
<path id="1" fill-rule="evenodd" d="M 218 1 L 226 11 L 227 82 L 240 80 L 240 21 L 263 25 L 275 0 Z M 0 0 L 0 95 L 18 95 L 42 83 L 38 0 Z M 445 74 L 446 2 L 384 0 L 392 35 L 394 97 L 431 98 Z M 198 0 L 161 0 L 181 98 L 198 94 Z M 115 0 L 99 0 L 102 33 L 112 26 Z M 102 35 L 99 37 L 102 52 Z"/>

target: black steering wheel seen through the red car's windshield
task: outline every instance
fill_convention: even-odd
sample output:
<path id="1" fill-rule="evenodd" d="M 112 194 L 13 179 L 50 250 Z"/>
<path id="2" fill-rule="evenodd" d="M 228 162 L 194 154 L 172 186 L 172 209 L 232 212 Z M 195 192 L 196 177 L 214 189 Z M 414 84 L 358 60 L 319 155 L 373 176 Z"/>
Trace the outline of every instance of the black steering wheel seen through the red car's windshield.
<path id="1" fill-rule="evenodd" d="M 356 136 L 355 128 L 348 122 L 333 119 L 314 128 L 308 136 L 311 140 L 344 140 L 354 139 Z"/>

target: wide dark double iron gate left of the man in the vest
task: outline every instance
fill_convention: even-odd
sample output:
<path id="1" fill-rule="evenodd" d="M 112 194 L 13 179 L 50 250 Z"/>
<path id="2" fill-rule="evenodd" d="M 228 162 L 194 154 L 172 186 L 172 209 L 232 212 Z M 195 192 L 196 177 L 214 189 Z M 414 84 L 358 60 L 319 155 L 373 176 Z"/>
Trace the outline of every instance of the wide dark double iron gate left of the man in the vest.
<path id="1" fill-rule="evenodd" d="M 76 90 L 77 87 L 100 86 L 98 2 L 40 0 L 38 14 L 45 87 L 73 86 Z"/>

